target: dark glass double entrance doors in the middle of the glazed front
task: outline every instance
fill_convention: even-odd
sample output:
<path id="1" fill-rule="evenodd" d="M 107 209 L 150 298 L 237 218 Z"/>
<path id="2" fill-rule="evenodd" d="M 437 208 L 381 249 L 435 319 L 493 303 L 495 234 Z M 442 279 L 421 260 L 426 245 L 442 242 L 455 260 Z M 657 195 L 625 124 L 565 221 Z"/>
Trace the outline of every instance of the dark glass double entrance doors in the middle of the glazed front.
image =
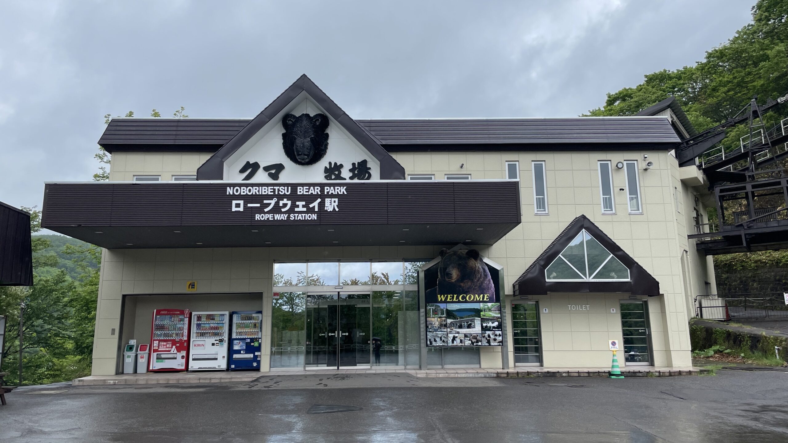
<path id="1" fill-rule="evenodd" d="M 309 294 L 307 369 L 370 366 L 370 294 Z"/>

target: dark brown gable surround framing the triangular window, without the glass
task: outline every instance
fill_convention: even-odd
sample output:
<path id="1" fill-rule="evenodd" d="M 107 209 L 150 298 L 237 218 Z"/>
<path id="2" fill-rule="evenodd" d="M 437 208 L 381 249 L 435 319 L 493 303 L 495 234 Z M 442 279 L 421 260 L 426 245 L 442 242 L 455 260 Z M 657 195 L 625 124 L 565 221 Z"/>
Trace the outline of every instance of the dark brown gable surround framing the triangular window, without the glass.
<path id="1" fill-rule="evenodd" d="M 545 269 L 583 229 L 630 270 L 630 281 L 547 281 Z M 544 296 L 548 292 L 627 292 L 637 296 L 660 295 L 660 282 L 585 215 L 574 218 L 518 277 L 513 286 L 515 296 Z"/>

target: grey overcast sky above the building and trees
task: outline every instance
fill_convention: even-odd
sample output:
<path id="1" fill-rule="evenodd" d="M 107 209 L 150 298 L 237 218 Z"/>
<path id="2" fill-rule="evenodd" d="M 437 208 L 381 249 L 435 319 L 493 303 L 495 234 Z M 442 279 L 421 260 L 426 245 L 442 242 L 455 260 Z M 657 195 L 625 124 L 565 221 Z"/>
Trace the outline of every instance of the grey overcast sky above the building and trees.
<path id="1" fill-rule="evenodd" d="M 0 2 L 0 201 L 89 181 L 103 115 L 254 117 L 302 74 L 355 118 L 573 117 L 701 60 L 749 2 Z"/>

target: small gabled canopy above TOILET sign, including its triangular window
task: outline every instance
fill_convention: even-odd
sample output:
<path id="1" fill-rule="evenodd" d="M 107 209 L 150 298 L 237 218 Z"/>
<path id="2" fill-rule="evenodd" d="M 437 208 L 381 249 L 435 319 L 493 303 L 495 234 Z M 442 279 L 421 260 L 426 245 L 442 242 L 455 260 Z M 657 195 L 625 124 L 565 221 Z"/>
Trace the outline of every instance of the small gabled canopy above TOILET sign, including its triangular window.
<path id="1" fill-rule="evenodd" d="M 514 287 L 515 296 L 548 292 L 660 294 L 660 283 L 585 215 L 559 233 Z"/>

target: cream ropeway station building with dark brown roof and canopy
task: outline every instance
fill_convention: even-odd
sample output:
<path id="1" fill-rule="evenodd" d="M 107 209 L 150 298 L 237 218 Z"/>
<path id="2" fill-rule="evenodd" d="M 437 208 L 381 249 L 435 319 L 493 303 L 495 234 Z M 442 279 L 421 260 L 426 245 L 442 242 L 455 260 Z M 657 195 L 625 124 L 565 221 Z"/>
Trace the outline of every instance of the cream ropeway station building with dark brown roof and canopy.
<path id="1" fill-rule="evenodd" d="M 609 367 L 609 340 L 689 367 L 708 191 L 671 152 L 680 108 L 646 111 L 354 120 L 301 76 L 252 119 L 113 119 L 110 181 L 46 184 L 43 226 L 104 248 L 96 375 L 155 308 L 262 310 L 261 370 Z M 485 346 L 428 345 L 444 248 L 491 271 Z"/>

